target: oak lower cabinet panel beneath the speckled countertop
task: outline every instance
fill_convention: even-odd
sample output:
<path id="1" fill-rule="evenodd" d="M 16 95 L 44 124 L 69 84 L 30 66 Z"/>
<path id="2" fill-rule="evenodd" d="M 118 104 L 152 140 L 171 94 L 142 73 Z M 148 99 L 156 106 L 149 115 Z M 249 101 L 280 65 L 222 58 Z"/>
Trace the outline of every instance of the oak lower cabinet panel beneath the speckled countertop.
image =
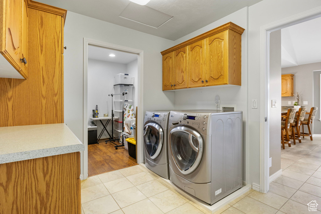
<path id="1" fill-rule="evenodd" d="M 0 164 L 0 213 L 81 214 L 80 152 Z"/>

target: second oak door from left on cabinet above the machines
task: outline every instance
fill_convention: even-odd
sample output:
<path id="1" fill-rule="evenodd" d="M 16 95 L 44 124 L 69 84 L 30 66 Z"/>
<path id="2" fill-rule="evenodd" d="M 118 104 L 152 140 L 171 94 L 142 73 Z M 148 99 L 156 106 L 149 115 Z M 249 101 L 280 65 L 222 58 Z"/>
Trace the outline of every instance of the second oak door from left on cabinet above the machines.
<path id="1" fill-rule="evenodd" d="M 187 47 L 174 51 L 174 89 L 187 88 Z"/>

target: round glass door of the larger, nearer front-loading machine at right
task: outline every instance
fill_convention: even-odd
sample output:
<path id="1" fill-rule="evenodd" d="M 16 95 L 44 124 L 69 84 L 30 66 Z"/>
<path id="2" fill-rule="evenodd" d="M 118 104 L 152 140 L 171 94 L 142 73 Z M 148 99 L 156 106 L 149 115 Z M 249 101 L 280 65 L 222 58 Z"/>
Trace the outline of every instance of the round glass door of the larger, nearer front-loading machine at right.
<path id="1" fill-rule="evenodd" d="M 170 149 L 176 166 L 183 175 L 195 171 L 202 160 L 203 138 L 194 129 L 178 126 L 169 133 Z"/>

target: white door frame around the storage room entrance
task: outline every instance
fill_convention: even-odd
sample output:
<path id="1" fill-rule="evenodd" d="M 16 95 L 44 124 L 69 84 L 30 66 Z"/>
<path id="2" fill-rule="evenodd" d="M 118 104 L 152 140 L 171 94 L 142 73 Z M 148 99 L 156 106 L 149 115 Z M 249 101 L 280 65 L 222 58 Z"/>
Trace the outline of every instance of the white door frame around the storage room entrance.
<path id="1" fill-rule="evenodd" d="M 88 45 L 95 45 L 99 47 L 105 47 L 118 51 L 124 51 L 138 55 L 138 118 L 137 127 L 143 127 L 143 50 L 125 47 L 120 45 L 114 45 L 107 42 L 101 42 L 94 39 L 83 38 L 83 144 L 85 150 L 83 152 L 83 179 L 88 177 L 88 127 L 87 127 L 87 97 L 88 97 Z M 138 129 L 139 130 L 139 129 Z M 137 132 L 137 142 L 142 142 L 143 132 Z M 144 153 L 141 143 L 137 144 L 137 163 L 143 163 Z"/>

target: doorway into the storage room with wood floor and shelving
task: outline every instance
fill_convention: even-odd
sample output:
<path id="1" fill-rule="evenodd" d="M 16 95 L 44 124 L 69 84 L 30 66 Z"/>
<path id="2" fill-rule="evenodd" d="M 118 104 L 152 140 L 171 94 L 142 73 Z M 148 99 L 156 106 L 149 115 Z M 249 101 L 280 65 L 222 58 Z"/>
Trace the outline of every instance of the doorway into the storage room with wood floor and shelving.
<path id="1" fill-rule="evenodd" d="M 84 179 L 142 161 L 142 56 L 84 39 Z"/>

